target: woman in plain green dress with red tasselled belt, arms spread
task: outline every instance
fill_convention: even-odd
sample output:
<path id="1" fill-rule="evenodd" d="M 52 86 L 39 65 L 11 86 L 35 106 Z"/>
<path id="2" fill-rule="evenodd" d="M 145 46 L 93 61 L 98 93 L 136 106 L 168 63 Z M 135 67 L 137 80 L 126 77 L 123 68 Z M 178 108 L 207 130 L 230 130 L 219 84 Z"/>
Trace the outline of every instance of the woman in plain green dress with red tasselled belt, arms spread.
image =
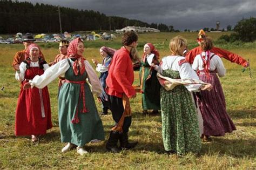
<path id="1" fill-rule="evenodd" d="M 58 76 L 65 78 L 59 91 L 59 128 L 62 142 L 68 144 L 62 152 L 77 148 L 80 155 L 87 154 L 84 146 L 90 141 L 104 140 L 102 120 L 96 108 L 92 92 L 98 97 L 103 89 L 89 62 L 83 58 L 84 44 L 80 38 L 72 40 L 68 58 L 36 76 L 26 86 L 42 89 Z M 86 81 L 88 79 L 88 81 Z M 89 86 L 91 84 L 91 89 Z"/>

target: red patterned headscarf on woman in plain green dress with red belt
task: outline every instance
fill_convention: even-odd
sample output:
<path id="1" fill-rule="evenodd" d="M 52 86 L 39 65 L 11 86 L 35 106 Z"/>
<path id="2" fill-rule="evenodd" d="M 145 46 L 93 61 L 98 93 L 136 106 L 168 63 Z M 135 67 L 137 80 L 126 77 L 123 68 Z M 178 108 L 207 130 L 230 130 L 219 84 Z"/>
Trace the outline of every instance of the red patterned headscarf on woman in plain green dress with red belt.
<path id="1" fill-rule="evenodd" d="M 69 47 L 68 47 L 68 57 L 76 59 L 73 64 L 73 71 L 76 76 L 78 75 L 78 71 L 80 72 L 81 75 L 85 72 L 85 65 L 84 65 L 85 58 L 77 54 L 77 46 L 79 42 L 83 42 L 82 39 L 76 38 L 69 43 Z"/>

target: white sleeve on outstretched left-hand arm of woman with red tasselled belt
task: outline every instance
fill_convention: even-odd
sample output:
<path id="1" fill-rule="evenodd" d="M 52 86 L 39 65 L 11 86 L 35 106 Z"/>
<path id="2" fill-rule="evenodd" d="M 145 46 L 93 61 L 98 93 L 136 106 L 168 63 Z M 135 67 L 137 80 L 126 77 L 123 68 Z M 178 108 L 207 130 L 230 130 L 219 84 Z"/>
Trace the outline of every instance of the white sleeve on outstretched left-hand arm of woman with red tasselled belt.
<path id="1" fill-rule="evenodd" d="M 43 89 L 46 85 L 55 80 L 60 74 L 64 74 L 70 65 L 67 59 L 61 60 L 57 64 L 49 67 L 41 76 L 35 76 L 29 81 L 31 87 L 36 86 L 38 89 Z"/>

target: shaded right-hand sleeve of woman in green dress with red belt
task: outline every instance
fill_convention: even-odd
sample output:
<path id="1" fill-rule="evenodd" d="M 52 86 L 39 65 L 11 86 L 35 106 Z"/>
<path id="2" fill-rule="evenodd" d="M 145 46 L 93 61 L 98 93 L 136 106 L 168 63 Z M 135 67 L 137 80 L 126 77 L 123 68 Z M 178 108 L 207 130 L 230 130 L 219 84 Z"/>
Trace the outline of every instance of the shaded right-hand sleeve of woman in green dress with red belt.
<path id="1" fill-rule="evenodd" d="M 100 94 L 102 94 L 103 92 L 103 87 L 100 84 L 99 78 L 87 60 L 84 61 L 84 64 L 85 64 L 85 70 L 88 74 L 89 83 L 91 84 L 91 87 L 92 87 L 92 92 L 99 97 Z"/>

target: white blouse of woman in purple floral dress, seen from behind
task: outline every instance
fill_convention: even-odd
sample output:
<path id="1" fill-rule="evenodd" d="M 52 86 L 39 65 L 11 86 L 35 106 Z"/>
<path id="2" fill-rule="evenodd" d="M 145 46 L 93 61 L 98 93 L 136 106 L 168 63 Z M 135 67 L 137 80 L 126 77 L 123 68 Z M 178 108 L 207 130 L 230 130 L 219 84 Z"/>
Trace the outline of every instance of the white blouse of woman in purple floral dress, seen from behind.
<path id="1" fill-rule="evenodd" d="M 210 52 L 210 56 L 212 56 L 214 53 Z M 203 51 L 201 53 L 202 56 L 205 56 L 205 52 Z M 192 69 L 193 70 L 204 70 L 203 67 L 204 63 L 203 60 L 201 59 L 200 55 L 197 55 L 194 58 L 194 62 L 192 64 Z M 210 68 L 209 70 L 213 71 L 213 70 L 217 70 L 218 76 L 219 77 L 223 77 L 226 74 L 226 69 L 224 67 L 224 64 L 222 62 L 222 60 L 220 59 L 219 56 L 214 55 L 212 57 L 212 59 L 210 60 Z"/>

